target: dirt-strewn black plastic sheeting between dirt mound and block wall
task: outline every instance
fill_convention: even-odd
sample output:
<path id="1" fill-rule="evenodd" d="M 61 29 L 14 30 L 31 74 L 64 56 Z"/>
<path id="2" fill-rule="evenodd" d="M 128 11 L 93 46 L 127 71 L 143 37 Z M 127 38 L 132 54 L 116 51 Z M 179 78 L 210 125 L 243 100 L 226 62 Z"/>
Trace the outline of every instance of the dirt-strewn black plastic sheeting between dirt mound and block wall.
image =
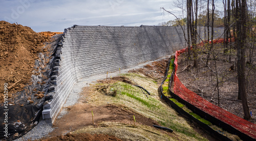
<path id="1" fill-rule="evenodd" d="M 0 112 L 3 112 L 0 114 L 0 139 L 13 140 L 23 136 L 35 126 L 35 122 L 38 123 L 41 116 L 42 106 L 45 100 L 49 99 L 47 94 L 48 88 L 52 86 L 50 83 L 50 76 L 52 76 L 53 73 L 55 52 L 59 39 L 60 35 L 55 35 L 52 38 L 53 41 L 51 43 L 45 43 L 45 47 L 48 48 L 48 53 L 38 53 L 39 59 L 35 61 L 34 68 L 37 69 L 35 73 L 39 75 L 31 76 L 32 84 L 26 86 L 23 91 L 14 94 L 15 98 L 13 100 L 8 99 L 7 108 L 4 107 L 4 103 L 0 103 Z M 34 96 L 37 92 L 44 92 L 45 97 L 37 99 L 36 96 Z M 31 100 L 34 103 L 29 103 L 29 97 L 31 97 Z M 22 104 L 24 106 L 20 106 Z M 4 122 L 6 116 L 4 114 L 4 109 L 8 109 L 7 137 L 5 132 L 5 124 L 7 123 Z M 18 136 L 14 136 L 15 133 L 18 133 Z"/>

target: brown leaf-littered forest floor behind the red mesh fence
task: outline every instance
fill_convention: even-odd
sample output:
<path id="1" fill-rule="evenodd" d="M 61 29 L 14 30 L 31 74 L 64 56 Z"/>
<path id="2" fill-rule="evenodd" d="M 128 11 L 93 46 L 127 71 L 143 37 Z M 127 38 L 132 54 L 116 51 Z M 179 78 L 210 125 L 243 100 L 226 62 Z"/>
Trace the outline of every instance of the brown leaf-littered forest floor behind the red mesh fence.
<path id="1" fill-rule="evenodd" d="M 194 68 L 194 61 L 186 60 L 186 53 L 183 53 L 178 58 L 178 70 L 177 75 L 181 82 L 189 90 L 202 96 L 212 104 L 218 105 L 218 91 L 217 91 L 217 79 L 216 79 L 216 67 L 215 61 L 209 60 L 208 66 L 206 63 L 205 50 L 200 51 L 198 68 Z M 215 53 L 218 53 L 216 60 L 217 74 L 219 78 L 219 95 L 220 95 L 220 107 L 231 112 L 238 117 L 243 118 L 244 112 L 241 100 L 237 100 L 238 97 L 238 76 L 236 71 L 236 51 L 231 54 L 231 62 L 228 62 L 228 55 L 223 53 L 223 45 L 217 44 L 214 49 Z M 247 50 L 248 51 L 248 50 Z M 202 60 L 201 60 L 202 59 Z M 256 54 L 253 54 L 252 66 L 246 65 L 246 77 L 247 83 L 247 101 L 249 110 L 252 112 L 252 120 L 250 122 L 256 123 L 256 69 L 255 69 Z M 210 69 L 209 69 L 210 68 Z"/>

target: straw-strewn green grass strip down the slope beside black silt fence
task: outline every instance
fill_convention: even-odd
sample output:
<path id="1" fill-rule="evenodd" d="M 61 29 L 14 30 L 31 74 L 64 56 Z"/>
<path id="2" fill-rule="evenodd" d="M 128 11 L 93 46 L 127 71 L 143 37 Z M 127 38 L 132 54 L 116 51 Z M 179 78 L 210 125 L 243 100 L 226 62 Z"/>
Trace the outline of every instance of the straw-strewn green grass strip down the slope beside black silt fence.
<path id="1" fill-rule="evenodd" d="M 160 101 L 160 96 L 157 91 L 158 85 L 154 79 L 146 78 L 144 75 L 140 75 L 139 73 L 128 73 L 123 74 L 123 76 L 136 81 L 141 87 L 145 88 L 147 91 L 150 91 L 151 95 L 148 95 L 147 98 L 138 87 L 118 81 L 113 83 L 111 87 L 114 90 L 117 90 L 117 95 L 115 97 L 102 95 L 104 98 L 99 96 L 97 98 L 99 100 L 108 98 L 109 100 L 105 100 L 105 103 L 124 105 L 130 110 L 133 110 L 147 118 L 151 118 L 162 126 L 173 129 L 175 131 L 174 139 L 162 140 L 207 140 L 195 132 L 185 119 L 178 116 L 176 114 L 177 112 L 173 108 Z M 163 89 L 165 92 L 164 94 L 167 94 L 169 91 L 168 87 L 166 86 Z M 184 105 L 181 104 L 180 106 Z M 155 130 L 150 131 L 155 132 Z"/>

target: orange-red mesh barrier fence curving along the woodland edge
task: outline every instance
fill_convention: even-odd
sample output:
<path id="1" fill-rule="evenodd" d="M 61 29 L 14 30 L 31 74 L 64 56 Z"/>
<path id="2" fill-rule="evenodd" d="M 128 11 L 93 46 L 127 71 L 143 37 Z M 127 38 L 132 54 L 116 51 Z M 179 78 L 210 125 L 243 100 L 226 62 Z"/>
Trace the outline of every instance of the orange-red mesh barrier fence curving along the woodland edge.
<path id="1" fill-rule="evenodd" d="M 175 73 L 174 73 L 174 93 L 183 100 L 193 104 L 197 108 L 203 110 L 207 114 L 223 121 L 224 123 L 231 125 L 233 128 L 245 133 L 246 135 L 256 139 L 256 125 L 248 122 L 230 112 L 208 102 L 196 93 L 188 90 L 179 80 L 176 71 L 178 69 L 178 57 L 180 53 L 185 52 L 186 49 L 176 51 L 175 54 Z"/>

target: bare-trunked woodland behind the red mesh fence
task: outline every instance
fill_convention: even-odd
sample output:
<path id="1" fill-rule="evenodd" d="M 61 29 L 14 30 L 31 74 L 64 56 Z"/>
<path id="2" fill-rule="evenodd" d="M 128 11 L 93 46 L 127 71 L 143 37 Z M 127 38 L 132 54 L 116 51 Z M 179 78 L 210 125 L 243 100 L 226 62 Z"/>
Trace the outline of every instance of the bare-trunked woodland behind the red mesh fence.
<path id="1" fill-rule="evenodd" d="M 188 82 L 188 85 L 198 83 L 193 86 L 202 95 L 213 91 L 214 94 L 209 101 L 221 106 L 226 103 L 221 98 L 223 95 L 227 95 L 227 91 L 225 93 L 221 90 L 224 90 L 223 82 L 230 80 L 227 72 L 235 72 L 235 83 L 230 82 L 229 86 L 225 87 L 237 86 L 237 89 L 234 89 L 236 97 L 228 99 L 240 101 L 239 104 L 242 104 L 243 113 L 237 116 L 242 116 L 245 120 L 253 120 L 251 111 L 255 111 L 253 101 L 256 99 L 254 90 L 256 85 L 254 78 L 256 72 L 254 53 L 256 2 L 253 0 L 177 0 L 174 6 L 176 10 L 164 8 L 161 10 L 163 13 L 175 16 L 176 19 L 159 23 L 159 25 L 181 26 L 183 29 L 187 52 L 184 56 L 185 66 L 182 71 L 188 70 L 189 73 L 191 72 L 191 77 L 195 78 Z M 177 9 L 179 10 L 177 11 Z M 198 28 L 202 26 L 205 29 L 204 39 L 201 39 L 198 34 Z M 221 41 L 218 45 L 214 44 L 213 27 L 224 29 L 222 39 L 215 39 L 217 42 Z M 202 72 L 205 68 L 209 72 L 207 69 Z M 203 77 L 199 72 L 201 74 L 207 72 L 209 76 L 204 75 Z M 200 79 L 206 79 L 205 77 L 207 79 L 210 77 L 211 83 L 202 88 L 203 81 L 200 84 Z M 203 91 L 211 86 L 213 90 Z M 249 106 L 248 97 L 252 101 Z"/>

